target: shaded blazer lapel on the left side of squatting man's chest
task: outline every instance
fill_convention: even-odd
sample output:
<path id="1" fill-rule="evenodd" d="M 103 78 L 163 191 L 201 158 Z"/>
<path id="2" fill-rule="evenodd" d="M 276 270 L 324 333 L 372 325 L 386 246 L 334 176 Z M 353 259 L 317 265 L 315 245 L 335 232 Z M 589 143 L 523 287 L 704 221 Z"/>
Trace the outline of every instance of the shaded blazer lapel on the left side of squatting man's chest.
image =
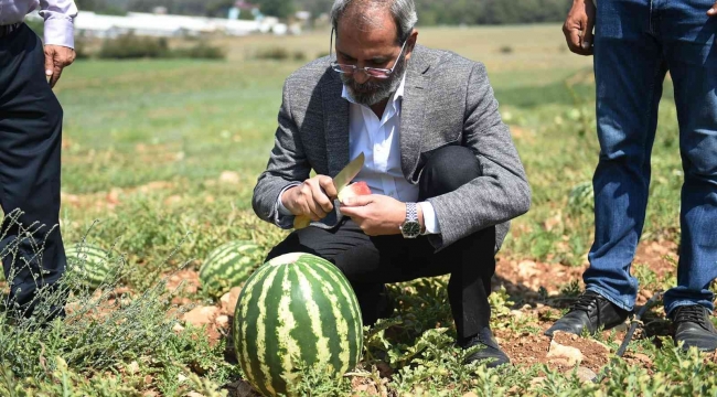
<path id="1" fill-rule="evenodd" d="M 330 176 L 349 163 L 349 101 L 341 97 L 343 83 L 333 74 L 321 89 L 327 137 L 327 159 Z"/>

